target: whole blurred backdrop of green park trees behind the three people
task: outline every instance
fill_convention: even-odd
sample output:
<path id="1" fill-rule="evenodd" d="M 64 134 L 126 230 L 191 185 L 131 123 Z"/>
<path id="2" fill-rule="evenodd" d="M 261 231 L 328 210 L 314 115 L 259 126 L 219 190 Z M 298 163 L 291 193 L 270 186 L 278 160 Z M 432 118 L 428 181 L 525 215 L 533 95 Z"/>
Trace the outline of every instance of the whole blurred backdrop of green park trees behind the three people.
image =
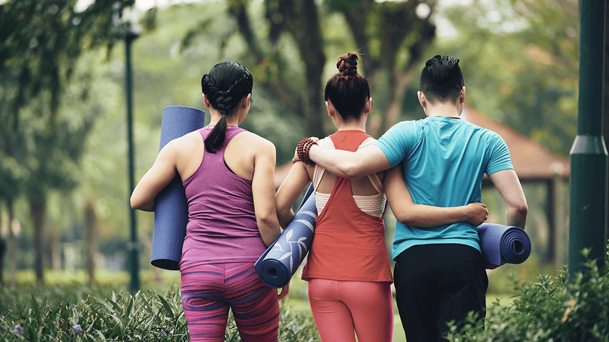
<path id="1" fill-rule="evenodd" d="M 124 45 L 116 36 L 122 15 L 140 15 L 143 26 L 156 27 L 133 44 L 136 180 L 157 155 L 163 107 L 205 110 L 200 79 L 224 60 L 252 72 L 254 102 L 242 127 L 275 144 L 278 166 L 301 138 L 334 131 L 323 87 L 336 58 L 350 51 L 361 54 L 359 71 L 373 92 L 373 136 L 424 116 L 418 73 L 435 54 L 460 59 L 468 105 L 492 119 L 561 156 L 576 134 L 576 0 L 224 0 L 130 9 L 135 2 L 0 4 L 0 232 L 10 245 L 7 270 L 37 265 L 41 281 L 47 267 L 93 267 L 91 254 L 99 268 L 125 269 Z M 544 192 L 526 191 L 543 212 Z M 138 219 L 144 267 L 152 220 Z M 530 225 L 533 232 L 543 222 Z M 87 236 L 98 243 L 85 248 Z"/>

